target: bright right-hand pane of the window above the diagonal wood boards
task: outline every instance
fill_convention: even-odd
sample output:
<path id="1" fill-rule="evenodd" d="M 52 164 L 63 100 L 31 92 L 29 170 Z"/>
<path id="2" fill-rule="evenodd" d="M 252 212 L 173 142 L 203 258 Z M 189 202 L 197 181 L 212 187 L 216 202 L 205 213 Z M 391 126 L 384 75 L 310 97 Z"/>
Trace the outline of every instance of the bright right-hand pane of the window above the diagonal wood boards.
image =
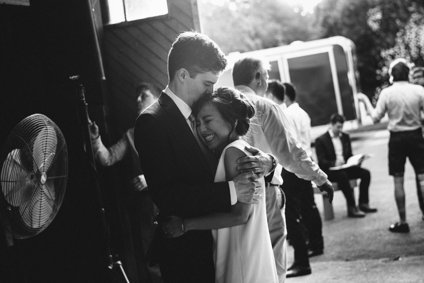
<path id="1" fill-rule="evenodd" d="M 168 14 L 166 0 L 125 0 L 127 21 Z"/>

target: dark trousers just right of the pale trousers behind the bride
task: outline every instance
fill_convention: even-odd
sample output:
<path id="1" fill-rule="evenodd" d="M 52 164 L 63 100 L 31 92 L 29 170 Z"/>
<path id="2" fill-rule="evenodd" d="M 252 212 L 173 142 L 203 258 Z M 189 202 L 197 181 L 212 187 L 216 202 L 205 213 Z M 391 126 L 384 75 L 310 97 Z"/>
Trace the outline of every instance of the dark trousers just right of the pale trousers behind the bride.
<path id="1" fill-rule="evenodd" d="M 323 249 L 322 222 L 315 205 L 310 181 L 300 179 L 283 169 L 283 185 L 286 196 L 287 239 L 294 249 L 294 262 L 309 266 L 307 238 L 311 249 Z"/>

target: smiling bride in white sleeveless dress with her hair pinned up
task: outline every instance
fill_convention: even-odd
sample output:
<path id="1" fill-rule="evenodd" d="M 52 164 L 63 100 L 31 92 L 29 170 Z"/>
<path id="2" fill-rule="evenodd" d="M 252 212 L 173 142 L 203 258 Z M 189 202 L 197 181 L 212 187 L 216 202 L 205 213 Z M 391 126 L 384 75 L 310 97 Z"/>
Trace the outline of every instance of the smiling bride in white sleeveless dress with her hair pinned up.
<path id="1" fill-rule="evenodd" d="M 238 90 L 220 87 L 194 105 L 196 128 L 201 140 L 220 156 L 215 182 L 230 181 L 240 174 L 237 159 L 251 155 L 248 133 L 255 106 Z M 182 219 L 170 216 L 168 235 L 178 237 L 189 230 L 212 230 L 216 283 L 278 283 L 268 232 L 264 190 L 258 204 L 237 202 L 231 213 L 210 213 Z M 195 268 L 195 266 L 193 266 Z"/>

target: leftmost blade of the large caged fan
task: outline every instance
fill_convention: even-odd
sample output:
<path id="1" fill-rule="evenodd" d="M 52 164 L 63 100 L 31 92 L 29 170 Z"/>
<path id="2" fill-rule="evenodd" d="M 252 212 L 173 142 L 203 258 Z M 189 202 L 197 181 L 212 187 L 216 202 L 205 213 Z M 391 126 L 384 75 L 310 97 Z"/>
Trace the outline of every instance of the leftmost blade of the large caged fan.
<path id="1" fill-rule="evenodd" d="M 9 152 L 1 171 L 1 186 L 6 201 L 13 206 L 19 206 L 21 201 L 28 202 L 34 185 L 33 174 L 22 165 L 21 150 Z"/>

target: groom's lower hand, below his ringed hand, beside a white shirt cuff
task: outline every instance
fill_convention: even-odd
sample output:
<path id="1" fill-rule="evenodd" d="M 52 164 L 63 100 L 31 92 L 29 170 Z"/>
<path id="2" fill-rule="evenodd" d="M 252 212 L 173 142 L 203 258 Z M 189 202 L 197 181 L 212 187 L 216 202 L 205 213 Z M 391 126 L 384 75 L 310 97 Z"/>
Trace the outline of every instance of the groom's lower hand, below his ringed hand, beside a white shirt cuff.
<path id="1" fill-rule="evenodd" d="M 234 177 L 233 182 L 236 188 L 237 201 L 247 204 L 258 203 L 262 197 L 261 183 L 252 181 L 256 178 L 253 172 L 245 172 Z"/>

